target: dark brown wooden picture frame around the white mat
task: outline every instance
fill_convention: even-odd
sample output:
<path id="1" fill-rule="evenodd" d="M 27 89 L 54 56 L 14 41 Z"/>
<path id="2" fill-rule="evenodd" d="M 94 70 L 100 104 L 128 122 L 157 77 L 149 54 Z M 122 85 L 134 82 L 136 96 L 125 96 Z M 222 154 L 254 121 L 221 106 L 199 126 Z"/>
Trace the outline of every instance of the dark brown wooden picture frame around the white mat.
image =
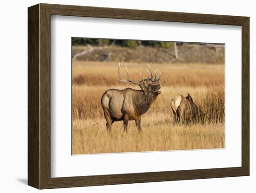
<path id="1" fill-rule="evenodd" d="M 51 178 L 50 16 L 242 26 L 242 167 Z M 249 175 L 249 17 L 38 4 L 28 8 L 28 185 L 39 189 Z"/>

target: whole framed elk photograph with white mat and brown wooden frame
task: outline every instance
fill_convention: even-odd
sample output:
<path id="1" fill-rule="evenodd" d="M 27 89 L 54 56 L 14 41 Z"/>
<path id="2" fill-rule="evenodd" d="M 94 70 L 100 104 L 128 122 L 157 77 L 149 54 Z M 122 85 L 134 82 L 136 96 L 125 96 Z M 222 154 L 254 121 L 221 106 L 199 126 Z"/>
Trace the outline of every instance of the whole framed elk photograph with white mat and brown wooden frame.
<path id="1" fill-rule="evenodd" d="M 28 8 L 28 185 L 249 175 L 249 17 Z"/>

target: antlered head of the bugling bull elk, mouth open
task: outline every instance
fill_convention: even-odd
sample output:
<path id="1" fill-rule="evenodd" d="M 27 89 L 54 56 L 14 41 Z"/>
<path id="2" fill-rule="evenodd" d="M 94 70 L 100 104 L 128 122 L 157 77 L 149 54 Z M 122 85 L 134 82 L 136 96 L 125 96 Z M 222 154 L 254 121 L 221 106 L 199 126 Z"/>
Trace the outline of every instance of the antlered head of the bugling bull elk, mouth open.
<path id="1" fill-rule="evenodd" d="M 126 69 L 128 80 L 121 77 L 120 71 L 119 71 L 120 65 L 121 65 L 121 62 L 119 62 L 119 66 L 118 66 L 118 76 L 119 76 L 121 82 L 139 85 L 141 87 L 141 90 L 143 90 L 143 92 L 146 95 L 157 96 L 161 93 L 160 84 L 156 84 L 161 78 L 161 72 L 157 68 L 156 68 L 156 71 L 155 71 L 155 78 L 153 78 L 152 69 L 148 64 L 150 75 L 149 75 L 149 71 L 147 70 L 148 77 L 147 78 L 142 78 L 142 75 L 141 75 L 141 72 L 140 72 L 141 81 L 140 82 L 135 82 L 131 79 L 127 67 L 125 67 L 125 69 Z"/>

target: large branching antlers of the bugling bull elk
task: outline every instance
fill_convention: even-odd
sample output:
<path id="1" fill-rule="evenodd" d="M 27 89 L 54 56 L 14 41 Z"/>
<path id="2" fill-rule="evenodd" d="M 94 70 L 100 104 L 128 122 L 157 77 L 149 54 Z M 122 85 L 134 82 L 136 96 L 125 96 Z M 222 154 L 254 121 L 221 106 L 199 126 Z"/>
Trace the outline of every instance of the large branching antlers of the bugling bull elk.
<path id="1" fill-rule="evenodd" d="M 126 79 L 122 78 L 121 75 L 120 75 L 120 66 L 121 66 L 121 62 L 119 62 L 119 66 L 118 66 L 118 76 L 120 78 L 120 81 L 124 82 L 124 83 L 137 84 L 137 85 L 142 85 L 143 84 L 143 85 L 147 86 L 149 81 L 151 81 L 152 83 L 157 83 L 160 80 L 160 77 L 161 77 L 161 72 L 158 69 L 156 69 L 157 72 L 155 71 L 155 79 L 153 80 L 152 70 L 151 70 L 150 66 L 148 65 L 151 75 L 149 77 L 149 72 L 147 70 L 148 78 L 142 78 L 142 75 L 141 75 L 141 72 L 140 72 L 141 82 L 133 81 L 131 79 L 130 75 L 129 75 L 127 67 L 125 67 L 126 73 L 127 73 L 127 77 L 129 79 L 129 80 L 126 80 Z"/>

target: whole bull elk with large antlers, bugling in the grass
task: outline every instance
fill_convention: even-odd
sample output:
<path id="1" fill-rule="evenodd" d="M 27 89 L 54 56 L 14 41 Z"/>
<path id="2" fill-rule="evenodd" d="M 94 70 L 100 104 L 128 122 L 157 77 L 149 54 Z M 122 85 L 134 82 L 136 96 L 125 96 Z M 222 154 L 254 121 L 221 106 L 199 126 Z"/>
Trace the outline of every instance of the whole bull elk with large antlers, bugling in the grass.
<path id="1" fill-rule="evenodd" d="M 150 105 L 155 101 L 156 97 L 161 93 L 160 84 L 156 84 L 161 78 L 161 72 L 156 69 L 155 78 L 153 79 L 152 70 L 148 65 L 150 76 L 142 78 L 141 81 L 133 81 L 126 72 L 128 80 L 123 79 L 120 75 L 120 65 L 118 66 L 118 76 L 121 82 L 139 85 L 141 90 L 126 88 L 124 90 L 109 89 L 101 97 L 101 105 L 106 118 L 107 130 L 110 131 L 112 124 L 115 121 L 123 121 L 124 130 L 128 129 L 128 121 L 135 120 L 136 127 L 141 132 L 141 115 L 146 113 Z M 151 82 L 151 83 L 149 83 Z"/>

